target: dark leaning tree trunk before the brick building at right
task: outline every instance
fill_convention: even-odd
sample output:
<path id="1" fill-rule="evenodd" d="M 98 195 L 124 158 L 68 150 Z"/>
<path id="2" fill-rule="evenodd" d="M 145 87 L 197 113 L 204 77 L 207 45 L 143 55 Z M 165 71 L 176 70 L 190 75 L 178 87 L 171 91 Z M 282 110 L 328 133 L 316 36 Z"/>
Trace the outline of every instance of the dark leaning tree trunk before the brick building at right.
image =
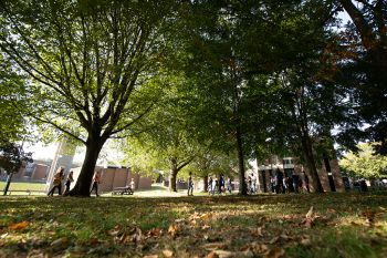
<path id="1" fill-rule="evenodd" d="M 316 162 L 313 154 L 312 143 L 307 135 L 303 135 L 302 137 L 302 147 L 304 151 L 304 156 L 306 159 L 306 164 L 310 171 L 310 175 L 312 177 L 313 188 L 315 193 L 324 193 L 323 186 L 321 184 Z"/>

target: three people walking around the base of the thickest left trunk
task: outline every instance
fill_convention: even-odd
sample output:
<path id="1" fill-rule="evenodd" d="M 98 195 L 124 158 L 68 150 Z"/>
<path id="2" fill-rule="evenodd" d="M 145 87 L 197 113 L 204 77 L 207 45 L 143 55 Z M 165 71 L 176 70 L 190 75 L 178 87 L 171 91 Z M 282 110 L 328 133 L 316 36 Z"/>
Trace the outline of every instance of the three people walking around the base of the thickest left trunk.
<path id="1" fill-rule="evenodd" d="M 56 173 L 54 174 L 53 180 L 52 180 L 52 188 L 50 189 L 50 192 L 48 193 L 48 196 L 53 196 L 55 189 L 57 189 L 57 194 L 59 195 L 67 195 L 67 193 L 70 192 L 70 185 L 71 183 L 74 182 L 74 172 L 70 171 L 67 174 L 67 177 L 65 179 L 64 183 L 64 192 L 62 193 L 62 182 L 64 180 L 64 167 L 60 167 L 57 168 Z M 101 173 L 96 172 L 94 174 L 93 177 L 93 184 L 92 184 L 92 188 L 90 190 L 90 194 L 93 193 L 93 190 L 95 192 L 95 196 L 100 196 L 98 194 L 98 185 L 101 184 Z"/>

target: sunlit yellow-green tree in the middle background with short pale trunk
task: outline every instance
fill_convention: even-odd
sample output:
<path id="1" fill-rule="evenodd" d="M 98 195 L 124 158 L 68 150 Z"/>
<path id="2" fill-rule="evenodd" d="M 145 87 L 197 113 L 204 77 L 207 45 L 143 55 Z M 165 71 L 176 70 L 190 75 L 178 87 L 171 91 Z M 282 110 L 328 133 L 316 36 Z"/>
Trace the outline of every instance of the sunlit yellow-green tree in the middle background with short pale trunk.
<path id="1" fill-rule="evenodd" d="M 126 153 L 134 166 L 169 171 L 169 189 L 177 192 L 177 175 L 195 159 L 198 143 L 190 116 L 184 110 L 185 99 L 177 92 L 178 81 L 171 83 L 175 85 L 147 116 L 146 130 L 128 140 Z"/>

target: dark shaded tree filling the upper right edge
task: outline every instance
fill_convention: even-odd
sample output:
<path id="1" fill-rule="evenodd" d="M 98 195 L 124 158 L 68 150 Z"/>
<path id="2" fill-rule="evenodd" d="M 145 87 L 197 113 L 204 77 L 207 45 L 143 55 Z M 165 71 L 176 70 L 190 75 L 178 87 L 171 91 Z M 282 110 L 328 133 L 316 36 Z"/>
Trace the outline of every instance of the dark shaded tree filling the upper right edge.
<path id="1" fill-rule="evenodd" d="M 339 0 L 352 19 L 343 33 L 346 52 L 341 63 L 357 115 L 369 127 L 366 138 L 377 142 L 377 153 L 387 154 L 387 2 Z M 349 62 L 348 62 L 349 61 Z M 356 132 L 357 131 L 357 132 Z M 359 134 L 359 130 L 352 132 Z"/>

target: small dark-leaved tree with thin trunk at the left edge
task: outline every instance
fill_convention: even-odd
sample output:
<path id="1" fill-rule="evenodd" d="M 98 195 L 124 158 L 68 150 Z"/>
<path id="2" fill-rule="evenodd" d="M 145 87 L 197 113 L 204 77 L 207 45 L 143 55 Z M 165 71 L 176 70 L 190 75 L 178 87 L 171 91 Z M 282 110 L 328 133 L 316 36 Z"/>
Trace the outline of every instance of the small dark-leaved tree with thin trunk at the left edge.
<path id="1" fill-rule="evenodd" d="M 32 161 L 32 153 L 25 153 L 22 146 L 11 142 L 0 143 L 0 167 L 8 174 L 3 195 L 7 195 L 13 173 L 17 173 L 28 162 Z"/>

